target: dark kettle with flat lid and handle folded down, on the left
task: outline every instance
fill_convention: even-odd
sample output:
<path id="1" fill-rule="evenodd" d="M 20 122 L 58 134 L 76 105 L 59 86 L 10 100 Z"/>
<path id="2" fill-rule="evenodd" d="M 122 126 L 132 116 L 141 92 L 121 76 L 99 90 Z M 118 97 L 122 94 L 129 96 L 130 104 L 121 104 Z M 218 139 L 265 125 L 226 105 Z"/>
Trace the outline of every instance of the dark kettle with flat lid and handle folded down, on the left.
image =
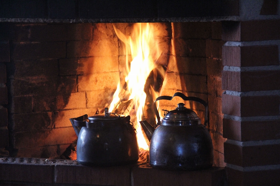
<path id="1" fill-rule="evenodd" d="M 108 112 L 70 119 L 78 136 L 77 161 L 88 166 L 113 166 L 137 162 L 139 148 L 130 116 Z"/>

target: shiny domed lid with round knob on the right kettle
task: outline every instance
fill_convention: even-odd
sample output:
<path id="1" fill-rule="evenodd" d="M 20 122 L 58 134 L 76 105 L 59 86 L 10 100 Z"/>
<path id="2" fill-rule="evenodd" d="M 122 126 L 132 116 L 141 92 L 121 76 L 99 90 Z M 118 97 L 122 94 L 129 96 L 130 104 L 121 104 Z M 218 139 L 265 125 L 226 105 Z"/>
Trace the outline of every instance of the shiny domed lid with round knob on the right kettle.
<path id="1" fill-rule="evenodd" d="M 184 103 L 178 103 L 175 110 L 170 110 L 162 119 L 162 125 L 198 125 L 201 119 L 197 114 L 188 108 Z"/>

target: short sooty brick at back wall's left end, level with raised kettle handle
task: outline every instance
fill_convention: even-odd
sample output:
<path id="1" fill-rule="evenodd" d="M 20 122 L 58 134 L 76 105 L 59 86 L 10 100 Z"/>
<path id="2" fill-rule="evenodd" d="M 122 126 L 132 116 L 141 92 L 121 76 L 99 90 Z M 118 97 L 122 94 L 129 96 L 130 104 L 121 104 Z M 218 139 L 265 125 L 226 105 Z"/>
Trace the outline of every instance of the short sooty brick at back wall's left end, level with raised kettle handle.
<path id="1" fill-rule="evenodd" d="M 11 113 L 29 113 L 33 109 L 32 96 L 13 96 Z"/>

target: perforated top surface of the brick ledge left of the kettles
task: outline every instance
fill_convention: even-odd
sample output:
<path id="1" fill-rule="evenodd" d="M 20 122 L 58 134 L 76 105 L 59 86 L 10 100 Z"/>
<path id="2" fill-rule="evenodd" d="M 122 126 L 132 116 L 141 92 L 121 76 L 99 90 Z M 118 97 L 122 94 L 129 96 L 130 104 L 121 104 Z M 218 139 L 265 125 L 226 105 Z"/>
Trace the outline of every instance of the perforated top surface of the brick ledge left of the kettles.
<path id="1" fill-rule="evenodd" d="M 61 159 L 44 159 L 44 158 L 14 158 L 0 157 L 0 163 L 16 163 L 16 164 L 69 164 L 80 165 L 77 160 L 61 160 Z"/>

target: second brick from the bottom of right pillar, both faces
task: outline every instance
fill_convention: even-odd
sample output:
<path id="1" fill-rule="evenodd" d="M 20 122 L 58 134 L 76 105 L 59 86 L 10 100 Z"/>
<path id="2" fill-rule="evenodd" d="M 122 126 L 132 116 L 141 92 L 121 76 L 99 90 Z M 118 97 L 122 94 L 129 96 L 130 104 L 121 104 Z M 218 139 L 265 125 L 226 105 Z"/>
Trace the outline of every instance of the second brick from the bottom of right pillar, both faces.
<path id="1" fill-rule="evenodd" d="M 225 162 L 241 167 L 279 164 L 280 144 L 239 146 L 224 143 Z"/>

